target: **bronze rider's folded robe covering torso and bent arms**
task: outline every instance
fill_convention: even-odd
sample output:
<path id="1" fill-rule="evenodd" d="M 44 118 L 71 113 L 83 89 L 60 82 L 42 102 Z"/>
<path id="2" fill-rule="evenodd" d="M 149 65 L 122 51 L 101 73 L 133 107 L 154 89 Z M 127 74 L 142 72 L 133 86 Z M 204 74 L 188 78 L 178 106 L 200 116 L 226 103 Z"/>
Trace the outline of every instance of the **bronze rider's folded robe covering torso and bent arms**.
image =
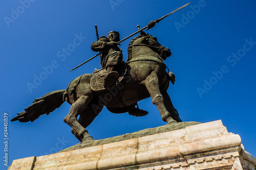
<path id="1" fill-rule="evenodd" d="M 101 68 L 118 65 L 123 59 L 120 48 L 118 46 L 115 48 L 108 48 L 106 47 L 107 42 L 110 42 L 110 40 L 105 36 L 102 36 L 98 41 L 93 42 L 91 45 L 94 52 L 100 52 Z"/>

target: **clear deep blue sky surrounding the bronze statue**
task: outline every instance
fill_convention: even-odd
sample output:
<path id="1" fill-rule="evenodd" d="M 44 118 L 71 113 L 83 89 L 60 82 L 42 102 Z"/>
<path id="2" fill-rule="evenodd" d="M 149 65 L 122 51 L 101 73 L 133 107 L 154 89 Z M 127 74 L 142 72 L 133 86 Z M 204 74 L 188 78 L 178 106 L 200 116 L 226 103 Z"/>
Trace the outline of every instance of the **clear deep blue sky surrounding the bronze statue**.
<path id="1" fill-rule="evenodd" d="M 256 156 L 256 27 L 255 1 L 2 1 L 1 32 L 1 136 L 8 113 L 8 165 L 13 159 L 41 156 L 68 148 L 79 141 L 63 122 L 70 105 L 63 104 L 33 123 L 10 122 L 17 112 L 40 96 L 66 89 L 76 77 L 100 68 L 90 48 L 100 36 L 119 31 L 124 38 L 151 20 L 191 2 L 191 5 L 159 22 L 150 33 L 169 47 L 173 55 L 165 63 L 176 75 L 168 93 L 184 122 L 206 123 L 221 119 L 228 132 L 239 134 L 245 149 Z M 72 49 L 73 40 L 81 43 Z M 131 40 L 131 39 L 130 39 Z M 121 43 L 124 60 L 127 44 Z M 62 48 L 69 47 L 65 54 Z M 73 45 L 74 47 L 74 45 Z M 61 57 L 60 57 L 61 55 Z M 44 68 L 53 65 L 44 74 Z M 34 83 L 35 77 L 44 80 Z M 29 88 L 28 84 L 33 84 Z M 36 86 L 36 88 L 35 88 Z M 103 111 L 88 127 L 94 139 L 102 139 L 165 125 L 151 98 L 139 102 L 149 113 L 134 117 Z M 4 139 L 2 139 L 4 141 Z M 5 154 L 0 145 L 1 157 Z M 7 169 L 3 160 L 1 169 Z"/>

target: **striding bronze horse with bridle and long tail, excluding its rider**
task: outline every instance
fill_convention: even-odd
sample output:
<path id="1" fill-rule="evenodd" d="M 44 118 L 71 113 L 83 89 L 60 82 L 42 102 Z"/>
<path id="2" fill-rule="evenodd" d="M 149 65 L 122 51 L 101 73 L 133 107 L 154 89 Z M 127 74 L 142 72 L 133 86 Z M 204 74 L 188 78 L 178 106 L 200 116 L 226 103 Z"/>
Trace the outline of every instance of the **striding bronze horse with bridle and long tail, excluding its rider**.
<path id="1" fill-rule="evenodd" d="M 18 116 L 12 122 L 33 122 L 40 115 L 49 114 L 65 101 L 71 104 L 64 122 L 72 127 L 71 132 L 82 141 L 93 140 L 86 128 L 105 106 L 112 113 L 124 113 L 133 108 L 138 101 L 151 96 L 164 122 L 174 124 L 182 122 L 167 93 L 169 81 L 174 84 L 171 72 L 165 71 L 163 60 L 172 53 L 162 46 L 157 38 L 139 35 L 132 39 L 128 47 L 129 57 L 124 63 L 126 74 L 122 81 L 111 89 L 95 91 L 91 88 L 93 74 L 84 74 L 73 80 L 66 90 L 49 92 Z M 80 115 L 77 120 L 78 115 Z"/>

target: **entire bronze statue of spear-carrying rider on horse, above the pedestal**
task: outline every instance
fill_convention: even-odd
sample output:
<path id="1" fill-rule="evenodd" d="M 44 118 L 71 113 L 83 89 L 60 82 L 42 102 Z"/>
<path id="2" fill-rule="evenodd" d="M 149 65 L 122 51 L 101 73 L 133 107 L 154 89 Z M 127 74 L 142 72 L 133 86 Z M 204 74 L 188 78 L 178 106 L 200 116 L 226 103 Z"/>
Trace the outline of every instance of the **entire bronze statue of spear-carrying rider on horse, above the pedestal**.
<path id="1" fill-rule="evenodd" d="M 18 116 L 11 121 L 33 122 L 42 114 L 50 114 L 66 101 L 71 104 L 71 109 L 64 122 L 72 127 L 71 132 L 79 141 L 88 141 L 93 138 L 86 128 L 104 106 L 112 113 L 133 112 L 134 109 L 137 110 L 135 112 L 143 112 L 135 106 L 138 101 L 151 96 L 164 122 L 167 124 L 182 122 L 167 93 L 169 81 L 174 84 L 175 76 L 172 72 L 165 71 L 167 67 L 163 60 L 172 53 L 162 46 L 156 37 L 145 34 L 143 30 L 153 28 L 156 23 L 189 4 L 155 21 L 150 21 L 146 27 L 120 41 L 117 32 L 110 32 L 108 38 L 101 37 L 99 39 L 101 42 L 94 42 L 91 46 L 92 50 L 100 52 L 98 54 L 101 57 L 100 70 L 79 76 L 70 82 L 66 90 L 52 91 L 35 99 L 32 105 L 25 108 L 24 112 L 18 113 Z M 129 44 L 128 59 L 124 63 L 117 45 L 139 32 L 141 35 L 133 38 Z M 80 117 L 77 120 L 78 115 Z M 141 113 L 132 115 L 142 116 Z"/>

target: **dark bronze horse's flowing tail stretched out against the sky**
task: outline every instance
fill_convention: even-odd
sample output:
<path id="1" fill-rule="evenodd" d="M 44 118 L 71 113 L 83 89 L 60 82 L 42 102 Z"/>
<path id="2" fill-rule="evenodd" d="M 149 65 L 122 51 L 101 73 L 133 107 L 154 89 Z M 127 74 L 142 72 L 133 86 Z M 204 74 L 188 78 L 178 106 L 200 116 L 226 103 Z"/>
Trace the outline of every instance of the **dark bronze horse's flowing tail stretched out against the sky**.
<path id="1" fill-rule="evenodd" d="M 65 102 L 62 100 L 65 92 L 66 90 L 56 90 L 41 96 L 39 99 L 35 99 L 32 105 L 25 108 L 24 112 L 17 113 L 18 115 L 12 118 L 11 121 L 33 122 L 40 115 L 50 114 Z"/>

